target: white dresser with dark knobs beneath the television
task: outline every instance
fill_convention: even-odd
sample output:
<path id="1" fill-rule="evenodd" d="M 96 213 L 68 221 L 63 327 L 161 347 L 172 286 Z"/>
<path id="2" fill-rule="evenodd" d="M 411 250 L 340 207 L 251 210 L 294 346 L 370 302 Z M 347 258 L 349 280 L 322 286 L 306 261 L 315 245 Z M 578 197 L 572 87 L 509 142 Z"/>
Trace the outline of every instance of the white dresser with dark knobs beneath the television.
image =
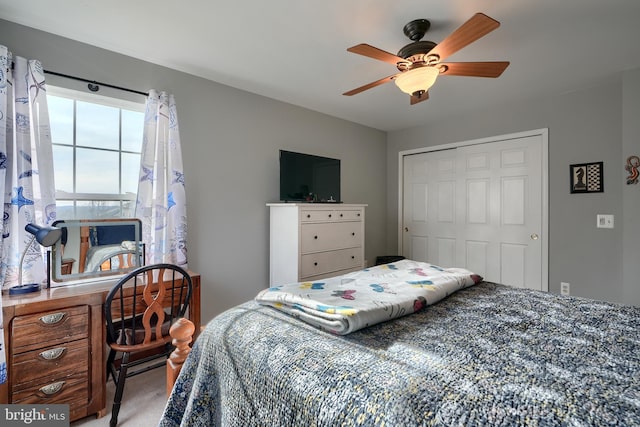
<path id="1" fill-rule="evenodd" d="M 317 280 L 364 265 L 362 204 L 268 203 L 270 286 Z"/>

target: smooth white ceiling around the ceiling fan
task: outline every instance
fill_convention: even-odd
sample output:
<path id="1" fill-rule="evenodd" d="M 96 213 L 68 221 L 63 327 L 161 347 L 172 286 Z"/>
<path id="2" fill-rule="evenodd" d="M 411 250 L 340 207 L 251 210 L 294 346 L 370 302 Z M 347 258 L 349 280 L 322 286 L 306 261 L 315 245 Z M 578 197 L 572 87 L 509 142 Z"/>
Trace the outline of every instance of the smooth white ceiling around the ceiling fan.
<path id="1" fill-rule="evenodd" d="M 447 61 L 510 61 L 501 77 L 442 76 L 414 106 L 393 83 L 342 95 L 397 71 L 348 47 L 395 54 L 418 18 L 438 43 L 476 12 L 502 25 Z M 0 18 L 381 130 L 640 67 L 639 0 L 0 0 Z"/>

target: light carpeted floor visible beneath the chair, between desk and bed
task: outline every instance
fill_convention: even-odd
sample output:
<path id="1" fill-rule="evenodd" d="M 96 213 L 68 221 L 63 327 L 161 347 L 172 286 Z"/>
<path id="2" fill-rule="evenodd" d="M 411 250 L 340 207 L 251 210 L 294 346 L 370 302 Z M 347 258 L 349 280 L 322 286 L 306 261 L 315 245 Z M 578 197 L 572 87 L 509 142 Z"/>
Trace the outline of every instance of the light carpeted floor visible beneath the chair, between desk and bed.
<path id="1" fill-rule="evenodd" d="M 158 425 L 167 402 L 165 378 L 164 368 L 153 369 L 144 374 L 127 378 L 124 385 L 122 406 L 118 415 L 118 426 L 151 427 Z M 74 421 L 71 423 L 71 427 L 108 426 L 111 419 L 114 391 L 113 380 L 109 379 L 107 382 L 107 415 L 102 418 L 90 415 Z"/>

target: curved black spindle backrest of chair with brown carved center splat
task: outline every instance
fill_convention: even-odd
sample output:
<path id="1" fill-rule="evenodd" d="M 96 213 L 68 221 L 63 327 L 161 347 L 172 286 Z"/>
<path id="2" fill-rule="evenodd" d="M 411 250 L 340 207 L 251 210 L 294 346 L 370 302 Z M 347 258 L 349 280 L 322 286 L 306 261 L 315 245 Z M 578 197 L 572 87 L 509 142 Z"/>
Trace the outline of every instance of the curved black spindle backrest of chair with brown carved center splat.
<path id="1" fill-rule="evenodd" d="M 170 342 L 169 328 L 184 317 L 192 286 L 189 273 L 173 264 L 153 264 L 131 271 L 107 294 L 107 342 L 137 347 Z"/>

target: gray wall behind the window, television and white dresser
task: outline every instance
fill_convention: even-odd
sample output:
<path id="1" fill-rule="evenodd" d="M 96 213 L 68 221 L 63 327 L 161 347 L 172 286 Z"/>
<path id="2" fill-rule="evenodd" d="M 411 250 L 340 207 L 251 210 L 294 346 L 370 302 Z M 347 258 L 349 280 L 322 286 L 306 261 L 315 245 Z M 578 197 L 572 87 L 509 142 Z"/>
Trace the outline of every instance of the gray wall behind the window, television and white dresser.
<path id="1" fill-rule="evenodd" d="M 265 204 L 279 196 L 281 148 L 342 160 L 343 200 L 369 204 L 365 257 L 372 262 L 384 253 L 384 132 L 3 20 L 0 43 L 14 54 L 39 59 L 48 70 L 175 95 L 187 184 L 189 267 L 202 276 L 203 321 L 268 286 Z M 67 79 L 47 81 L 86 91 L 86 85 Z"/>

